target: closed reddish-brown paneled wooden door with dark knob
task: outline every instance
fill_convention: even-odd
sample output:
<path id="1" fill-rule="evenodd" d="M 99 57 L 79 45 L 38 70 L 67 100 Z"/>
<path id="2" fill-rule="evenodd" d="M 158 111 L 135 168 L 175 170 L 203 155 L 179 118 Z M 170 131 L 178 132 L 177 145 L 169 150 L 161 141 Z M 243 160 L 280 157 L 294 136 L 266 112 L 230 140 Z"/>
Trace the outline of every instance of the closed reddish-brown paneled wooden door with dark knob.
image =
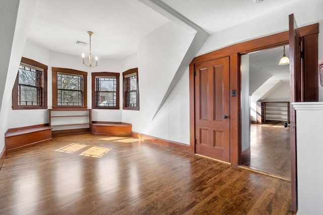
<path id="1" fill-rule="evenodd" d="M 230 162 L 229 57 L 195 64 L 195 153 Z"/>

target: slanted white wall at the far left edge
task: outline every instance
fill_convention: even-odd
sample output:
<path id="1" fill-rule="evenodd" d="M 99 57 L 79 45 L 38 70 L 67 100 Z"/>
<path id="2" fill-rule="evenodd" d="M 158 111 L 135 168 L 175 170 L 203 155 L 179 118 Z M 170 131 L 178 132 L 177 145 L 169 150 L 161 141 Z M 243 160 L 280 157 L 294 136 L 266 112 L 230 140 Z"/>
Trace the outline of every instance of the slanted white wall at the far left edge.
<path id="1" fill-rule="evenodd" d="M 29 14 L 33 13 L 34 6 L 34 1 L 28 1 L 28 3 L 27 1 L 0 2 L 0 30 L 2 32 L 0 35 L 0 47 L 2 47 L 0 54 L 0 75 L 2 77 L 0 81 L 0 152 L 5 144 L 5 132 L 9 121 L 8 106 L 31 22 Z"/>

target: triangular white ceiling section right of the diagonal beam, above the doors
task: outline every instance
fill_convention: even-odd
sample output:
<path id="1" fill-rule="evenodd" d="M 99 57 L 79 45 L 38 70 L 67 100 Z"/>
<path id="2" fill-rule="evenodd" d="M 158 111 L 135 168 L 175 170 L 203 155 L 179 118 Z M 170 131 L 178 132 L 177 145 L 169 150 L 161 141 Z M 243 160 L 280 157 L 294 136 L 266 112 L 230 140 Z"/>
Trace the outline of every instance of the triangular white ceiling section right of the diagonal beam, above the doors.
<path id="1" fill-rule="evenodd" d="M 162 0 L 164 3 L 214 33 L 261 16 L 299 0 Z"/>

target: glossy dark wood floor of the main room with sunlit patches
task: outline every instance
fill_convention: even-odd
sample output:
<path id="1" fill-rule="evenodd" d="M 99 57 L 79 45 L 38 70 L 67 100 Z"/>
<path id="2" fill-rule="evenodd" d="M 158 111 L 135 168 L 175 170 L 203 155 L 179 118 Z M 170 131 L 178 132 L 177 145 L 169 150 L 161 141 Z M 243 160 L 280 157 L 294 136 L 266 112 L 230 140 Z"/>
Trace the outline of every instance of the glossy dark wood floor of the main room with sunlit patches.
<path id="1" fill-rule="evenodd" d="M 7 155 L 0 214 L 292 214 L 290 182 L 127 137 Z"/>

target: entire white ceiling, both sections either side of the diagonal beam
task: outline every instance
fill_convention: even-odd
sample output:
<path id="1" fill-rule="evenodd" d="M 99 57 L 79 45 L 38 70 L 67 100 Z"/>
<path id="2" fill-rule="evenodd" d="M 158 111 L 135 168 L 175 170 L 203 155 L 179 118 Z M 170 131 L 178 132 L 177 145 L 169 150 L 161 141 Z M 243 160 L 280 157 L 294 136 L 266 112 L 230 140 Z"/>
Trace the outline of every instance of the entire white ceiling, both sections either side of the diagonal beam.
<path id="1" fill-rule="evenodd" d="M 209 33 L 237 25 L 298 0 L 163 0 Z M 137 0 L 36 0 L 28 39 L 67 54 L 122 59 L 137 51 L 142 37 L 170 22 Z"/>

